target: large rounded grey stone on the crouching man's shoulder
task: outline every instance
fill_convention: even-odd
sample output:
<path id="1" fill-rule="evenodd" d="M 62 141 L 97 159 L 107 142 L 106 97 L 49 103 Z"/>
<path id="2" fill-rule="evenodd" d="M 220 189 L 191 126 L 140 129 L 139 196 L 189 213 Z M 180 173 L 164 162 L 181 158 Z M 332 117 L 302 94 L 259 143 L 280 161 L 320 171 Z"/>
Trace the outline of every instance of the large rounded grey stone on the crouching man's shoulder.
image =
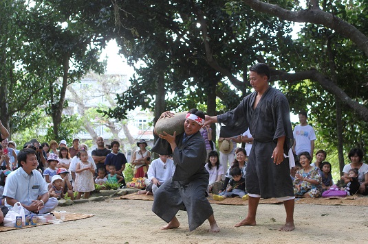
<path id="1" fill-rule="evenodd" d="M 174 117 L 162 118 L 155 124 L 155 132 L 162 134 L 166 132 L 167 134 L 182 134 L 184 133 L 184 121 L 187 112 L 177 112 Z"/>

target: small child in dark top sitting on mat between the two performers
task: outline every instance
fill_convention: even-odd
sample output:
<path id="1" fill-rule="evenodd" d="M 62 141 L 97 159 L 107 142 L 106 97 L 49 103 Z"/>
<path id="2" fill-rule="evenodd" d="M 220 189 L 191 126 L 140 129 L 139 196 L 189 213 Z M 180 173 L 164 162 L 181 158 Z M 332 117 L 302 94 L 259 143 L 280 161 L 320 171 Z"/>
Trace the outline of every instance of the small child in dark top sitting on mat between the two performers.
<path id="1" fill-rule="evenodd" d="M 226 197 L 241 197 L 241 199 L 246 200 L 248 195 L 246 195 L 246 182 L 245 179 L 241 177 L 241 170 L 238 167 L 231 169 L 230 175 L 232 179 L 228 183 L 228 188 L 226 191 L 221 191 L 219 195 L 213 195 L 213 199 L 216 201 L 222 201 Z"/>

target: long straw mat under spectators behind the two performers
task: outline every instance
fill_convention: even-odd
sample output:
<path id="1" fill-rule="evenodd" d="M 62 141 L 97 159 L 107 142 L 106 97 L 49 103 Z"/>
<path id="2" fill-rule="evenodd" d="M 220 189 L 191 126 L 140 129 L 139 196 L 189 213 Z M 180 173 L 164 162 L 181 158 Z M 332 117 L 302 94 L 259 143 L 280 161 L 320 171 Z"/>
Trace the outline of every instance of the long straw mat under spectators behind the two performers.
<path id="1" fill-rule="evenodd" d="M 144 194 L 128 194 L 114 199 L 130 199 L 130 200 L 146 200 L 153 201 L 152 195 Z M 212 194 L 208 197 L 208 201 L 211 204 L 224 204 L 224 205 L 248 205 L 248 201 L 243 201 L 239 197 L 226 198 L 223 201 L 215 201 L 212 198 Z M 259 204 L 282 204 L 283 202 L 277 201 L 275 198 L 260 199 Z M 296 198 L 295 204 L 316 204 L 316 205 L 342 205 L 342 206 L 368 206 L 368 197 L 362 196 L 348 196 L 343 198 Z"/>

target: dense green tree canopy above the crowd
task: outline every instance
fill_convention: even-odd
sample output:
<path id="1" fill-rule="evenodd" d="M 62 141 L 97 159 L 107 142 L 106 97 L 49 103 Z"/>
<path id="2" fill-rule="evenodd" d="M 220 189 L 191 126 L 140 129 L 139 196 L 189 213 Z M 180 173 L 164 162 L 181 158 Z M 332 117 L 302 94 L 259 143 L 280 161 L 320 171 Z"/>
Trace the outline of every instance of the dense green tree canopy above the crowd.
<path id="1" fill-rule="evenodd" d="M 249 66 L 266 62 L 272 68 L 270 82 L 288 97 L 292 112 L 309 111 L 321 147 L 338 148 L 340 156 L 351 147 L 368 149 L 368 0 L 34 2 L 35 17 L 22 17 L 25 29 L 34 26 L 34 32 L 6 29 L 21 18 L 19 10 L 1 26 L 17 38 L 1 37 L 1 44 L 34 53 L 20 60 L 24 69 L 38 71 L 35 81 L 51 73 L 47 77 L 67 74 L 71 82 L 91 67 L 100 70 L 94 58 L 110 39 L 116 39 L 129 64 L 140 65 L 131 87 L 117 95 L 116 108 L 105 111 L 109 117 L 125 119 L 137 106 L 153 108 L 156 119 L 164 110 L 203 106 L 210 115 L 231 110 L 251 92 Z M 295 23 L 303 24 L 298 36 L 292 32 Z M 33 38 L 34 45 L 22 38 Z M 1 58 L 10 53 L 3 51 Z M 65 58 L 80 71 L 65 69 Z M 1 82 L 8 82 L 14 70 L 6 67 Z M 22 73 L 25 77 L 33 76 Z"/>

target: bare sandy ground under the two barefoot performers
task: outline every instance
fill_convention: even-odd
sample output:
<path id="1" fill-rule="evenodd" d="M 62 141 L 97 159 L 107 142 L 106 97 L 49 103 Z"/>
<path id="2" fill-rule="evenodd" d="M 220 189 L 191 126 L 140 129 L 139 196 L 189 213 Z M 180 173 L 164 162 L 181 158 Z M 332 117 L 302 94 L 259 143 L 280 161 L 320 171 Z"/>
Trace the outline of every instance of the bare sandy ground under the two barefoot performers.
<path id="1" fill-rule="evenodd" d="M 160 230 L 164 225 L 151 211 L 151 201 L 115 200 L 58 207 L 67 212 L 94 213 L 94 217 L 59 225 L 43 225 L 1 232 L 0 243 L 348 243 L 368 240 L 368 207 L 295 206 L 296 229 L 279 232 L 285 219 L 282 204 L 261 204 L 257 225 L 235 228 L 248 206 L 213 204 L 221 229 L 208 233 L 208 221 L 193 232 L 188 230 L 186 212 L 178 212 L 181 226 Z"/>

